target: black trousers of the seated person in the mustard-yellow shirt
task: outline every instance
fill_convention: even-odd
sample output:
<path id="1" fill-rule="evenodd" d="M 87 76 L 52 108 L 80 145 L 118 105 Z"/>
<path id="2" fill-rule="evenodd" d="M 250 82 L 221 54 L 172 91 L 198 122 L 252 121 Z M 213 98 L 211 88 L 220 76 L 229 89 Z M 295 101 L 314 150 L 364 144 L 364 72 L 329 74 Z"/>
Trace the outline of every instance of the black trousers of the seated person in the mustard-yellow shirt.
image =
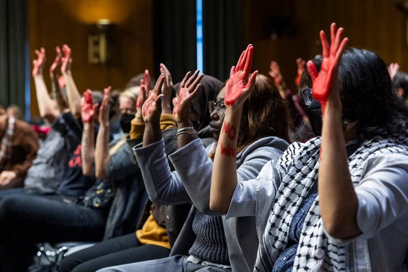
<path id="1" fill-rule="evenodd" d="M 95 272 L 108 266 L 164 258 L 169 254 L 168 248 L 141 244 L 133 232 L 66 256 L 59 272 Z"/>

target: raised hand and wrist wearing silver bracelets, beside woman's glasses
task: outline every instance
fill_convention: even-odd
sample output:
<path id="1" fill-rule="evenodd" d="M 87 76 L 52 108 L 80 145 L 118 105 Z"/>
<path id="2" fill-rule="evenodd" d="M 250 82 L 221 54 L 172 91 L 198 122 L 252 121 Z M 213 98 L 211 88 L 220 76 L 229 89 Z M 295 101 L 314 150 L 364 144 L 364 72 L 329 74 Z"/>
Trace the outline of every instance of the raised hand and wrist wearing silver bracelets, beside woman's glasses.
<path id="1" fill-rule="evenodd" d="M 200 90 L 200 80 L 204 74 L 198 75 L 200 71 L 196 70 L 194 74 L 188 72 L 180 83 L 178 97 L 173 99 L 173 115 L 177 122 L 177 143 L 178 148 L 185 146 L 198 138 L 197 131 L 194 129 L 190 120 L 190 103 Z"/>

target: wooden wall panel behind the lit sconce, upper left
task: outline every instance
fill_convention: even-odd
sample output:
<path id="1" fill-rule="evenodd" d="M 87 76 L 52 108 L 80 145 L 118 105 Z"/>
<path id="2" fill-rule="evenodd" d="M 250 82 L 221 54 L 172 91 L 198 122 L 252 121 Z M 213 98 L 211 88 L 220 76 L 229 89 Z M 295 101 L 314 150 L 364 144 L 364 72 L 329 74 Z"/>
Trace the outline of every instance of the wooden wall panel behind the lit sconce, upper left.
<path id="1" fill-rule="evenodd" d="M 144 69 L 153 69 L 153 0 L 29 0 L 30 59 L 34 50 L 47 51 L 44 72 L 48 90 L 48 68 L 55 58 L 55 46 L 72 48 L 72 73 L 80 92 L 105 86 L 124 88 L 126 82 Z M 115 24 L 112 61 L 88 64 L 90 25 L 107 18 Z M 32 66 L 31 66 L 32 69 Z M 38 116 L 34 82 L 31 79 L 31 114 Z"/>

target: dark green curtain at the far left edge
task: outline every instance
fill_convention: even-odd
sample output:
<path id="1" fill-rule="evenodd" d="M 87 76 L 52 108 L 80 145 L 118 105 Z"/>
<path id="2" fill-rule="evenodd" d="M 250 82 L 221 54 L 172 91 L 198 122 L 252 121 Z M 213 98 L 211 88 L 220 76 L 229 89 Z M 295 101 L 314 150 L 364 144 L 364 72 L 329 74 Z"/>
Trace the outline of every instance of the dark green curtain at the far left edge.
<path id="1" fill-rule="evenodd" d="M 26 0 L 0 0 L 0 104 L 3 107 L 16 104 L 23 112 L 25 90 L 29 89 L 25 71 L 26 4 Z"/>

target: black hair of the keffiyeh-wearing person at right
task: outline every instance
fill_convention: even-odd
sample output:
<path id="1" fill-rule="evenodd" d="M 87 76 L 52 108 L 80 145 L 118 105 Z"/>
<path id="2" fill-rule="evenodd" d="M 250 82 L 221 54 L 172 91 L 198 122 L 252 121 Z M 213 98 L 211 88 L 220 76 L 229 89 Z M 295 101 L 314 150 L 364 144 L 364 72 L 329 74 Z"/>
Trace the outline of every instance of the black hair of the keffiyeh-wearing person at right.
<path id="1" fill-rule="evenodd" d="M 319 70 L 321 57 L 313 62 Z M 303 73 L 299 86 L 312 86 L 309 73 Z M 339 91 L 343 122 L 357 122 L 356 138 L 405 133 L 408 108 L 396 95 L 387 64 L 376 52 L 345 49 L 339 65 Z"/>

